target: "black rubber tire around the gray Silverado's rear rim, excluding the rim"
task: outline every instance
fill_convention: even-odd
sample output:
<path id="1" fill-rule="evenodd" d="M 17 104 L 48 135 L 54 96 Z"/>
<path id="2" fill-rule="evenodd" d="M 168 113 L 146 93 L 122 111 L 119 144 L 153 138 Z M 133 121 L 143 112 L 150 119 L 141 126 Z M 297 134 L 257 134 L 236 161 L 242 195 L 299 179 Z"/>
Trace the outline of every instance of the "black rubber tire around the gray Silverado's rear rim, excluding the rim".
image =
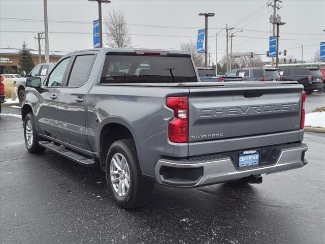
<path id="1" fill-rule="evenodd" d="M 111 180 L 111 161 L 115 155 L 122 155 L 124 157 L 129 172 L 129 188 L 124 196 L 118 195 L 118 190 L 115 190 L 116 186 L 113 186 Z M 121 176 L 119 173 L 116 173 L 116 175 L 117 177 Z M 126 176 L 122 175 L 121 177 Z M 154 182 L 142 176 L 136 147 L 132 139 L 118 140 L 111 145 L 106 157 L 106 181 L 115 203 L 122 208 L 132 209 L 140 207 L 150 200 Z"/>

